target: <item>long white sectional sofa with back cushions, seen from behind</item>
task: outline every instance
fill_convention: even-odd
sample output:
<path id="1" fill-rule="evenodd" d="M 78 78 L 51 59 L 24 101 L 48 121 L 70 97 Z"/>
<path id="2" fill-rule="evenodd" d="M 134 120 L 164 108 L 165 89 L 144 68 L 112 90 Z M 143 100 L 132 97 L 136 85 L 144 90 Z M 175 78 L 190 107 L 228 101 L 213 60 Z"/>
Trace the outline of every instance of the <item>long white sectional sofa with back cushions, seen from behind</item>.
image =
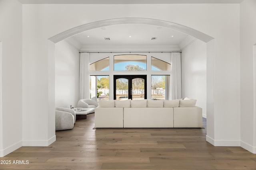
<path id="1" fill-rule="evenodd" d="M 201 128 L 196 100 L 100 100 L 95 128 Z"/>

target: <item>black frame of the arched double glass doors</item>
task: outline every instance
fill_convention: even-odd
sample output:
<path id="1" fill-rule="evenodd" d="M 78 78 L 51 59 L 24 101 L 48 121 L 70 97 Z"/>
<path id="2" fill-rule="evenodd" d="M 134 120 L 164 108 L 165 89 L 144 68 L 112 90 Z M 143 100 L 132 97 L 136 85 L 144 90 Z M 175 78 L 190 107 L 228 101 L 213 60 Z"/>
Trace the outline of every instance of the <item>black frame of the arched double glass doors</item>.
<path id="1" fill-rule="evenodd" d="M 132 100 L 132 80 L 134 78 L 144 79 L 144 99 L 147 99 L 147 75 L 113 75 L 114 78 L 114 100 L 116 100 L 116 80 L 119 78 L 128 79 L 128 99 Z"/>

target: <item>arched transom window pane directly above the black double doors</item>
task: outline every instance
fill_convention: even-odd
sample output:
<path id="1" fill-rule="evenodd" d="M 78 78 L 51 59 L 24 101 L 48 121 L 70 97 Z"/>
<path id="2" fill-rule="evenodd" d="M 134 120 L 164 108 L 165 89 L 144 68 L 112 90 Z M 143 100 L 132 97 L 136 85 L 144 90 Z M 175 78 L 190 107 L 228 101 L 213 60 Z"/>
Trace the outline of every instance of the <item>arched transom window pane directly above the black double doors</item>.
<path id="1" fill-rule="evenodd" d="M 147 68 L 146 55 L 115 55 L 115 71 L 141 71 Z"/>

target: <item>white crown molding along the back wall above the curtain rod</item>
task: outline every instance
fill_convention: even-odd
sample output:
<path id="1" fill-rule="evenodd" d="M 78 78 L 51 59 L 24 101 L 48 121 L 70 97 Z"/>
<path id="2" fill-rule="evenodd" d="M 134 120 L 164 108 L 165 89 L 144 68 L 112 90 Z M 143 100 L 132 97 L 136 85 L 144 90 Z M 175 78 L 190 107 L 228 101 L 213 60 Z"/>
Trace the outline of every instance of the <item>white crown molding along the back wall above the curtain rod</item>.
<path id="1" fill-rule="evenodd" d="M 83 45 L 80 52 L 170 52 L 180 51 L 178 45 Z"/>

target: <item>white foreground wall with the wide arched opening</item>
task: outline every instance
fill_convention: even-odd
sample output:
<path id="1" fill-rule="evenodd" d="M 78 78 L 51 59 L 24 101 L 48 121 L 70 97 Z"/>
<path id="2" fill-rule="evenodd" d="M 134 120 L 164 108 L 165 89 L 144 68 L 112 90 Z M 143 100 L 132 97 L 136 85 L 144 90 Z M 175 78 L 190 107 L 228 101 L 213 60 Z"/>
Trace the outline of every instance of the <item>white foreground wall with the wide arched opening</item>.
<path id="1" fill-rule="evenodd" d="M 214 120 L 209 119 L 214 123 L 207 127 L 213 129 L 208 139 L 213 145 L 240 145 L 239 10 L 239 4 L 24 4 L 23 137 L 48 140 L 47 39 L 94 21 L 138 17 L 179 23 L 214 37 L 214 69 L 209 70 L 214 72 Z"/>

